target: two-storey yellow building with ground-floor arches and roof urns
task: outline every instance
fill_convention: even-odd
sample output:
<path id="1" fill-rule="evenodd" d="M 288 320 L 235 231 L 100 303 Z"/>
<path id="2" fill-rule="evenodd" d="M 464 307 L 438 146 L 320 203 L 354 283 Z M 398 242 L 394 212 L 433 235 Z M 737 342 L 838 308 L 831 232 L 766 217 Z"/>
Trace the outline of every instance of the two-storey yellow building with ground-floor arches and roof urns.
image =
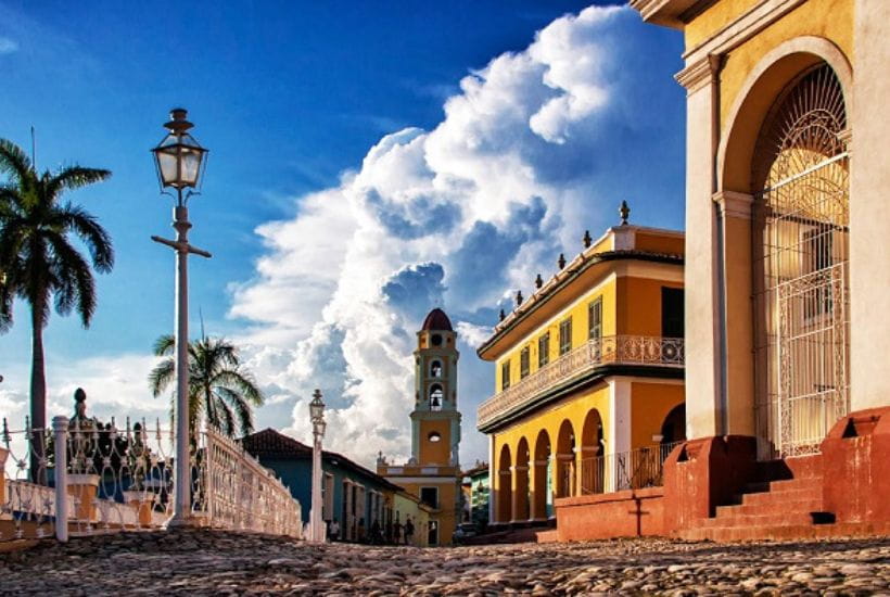
<path id="1" fill-rule="evenodd" d="M 496 364 L 478 411 L 493 524 L 545 522 L 555 498 L 657 482 L 663 446 L 685 437 L 683 233 L 632 226 L 626 205 L 622 217 L 520 292 L 478 351 Z"/>

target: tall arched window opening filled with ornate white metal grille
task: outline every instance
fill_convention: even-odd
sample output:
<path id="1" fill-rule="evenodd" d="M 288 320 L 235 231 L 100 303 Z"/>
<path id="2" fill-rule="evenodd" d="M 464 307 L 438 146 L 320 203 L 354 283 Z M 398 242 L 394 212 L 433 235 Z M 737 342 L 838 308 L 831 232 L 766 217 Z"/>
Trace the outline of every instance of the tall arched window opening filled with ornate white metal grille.
<path id="1" fill-rule="evenodd" d="M 758 427 L 783 457 L 817 450 L 849 409 L 846 130 L 821 63 L 776 99 L 754 148 Z"/>

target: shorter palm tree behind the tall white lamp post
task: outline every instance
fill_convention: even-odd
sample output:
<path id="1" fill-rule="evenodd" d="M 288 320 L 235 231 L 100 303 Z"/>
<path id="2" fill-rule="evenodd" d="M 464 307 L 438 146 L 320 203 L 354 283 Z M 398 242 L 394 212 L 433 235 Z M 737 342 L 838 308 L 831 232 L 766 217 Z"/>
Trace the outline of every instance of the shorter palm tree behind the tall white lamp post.
<path id="1" fill-rule="evenodd" d="M 152 395 L 157 397 L 176 379 L 173 335 L 162 335 L 154 344 L 156 356 L 167 357 L 149 374 Z M 189 429 L 194 430 L 201 417 L 229 437 L 236 432 L 253 432 L 252 407 L 263 405 L 263 393 L 253 376 L 241 367 L 238 350 L 225 339 L 202 336 L 189 343 Z M 170 397 L 170 419 L 176 393 Z"/>

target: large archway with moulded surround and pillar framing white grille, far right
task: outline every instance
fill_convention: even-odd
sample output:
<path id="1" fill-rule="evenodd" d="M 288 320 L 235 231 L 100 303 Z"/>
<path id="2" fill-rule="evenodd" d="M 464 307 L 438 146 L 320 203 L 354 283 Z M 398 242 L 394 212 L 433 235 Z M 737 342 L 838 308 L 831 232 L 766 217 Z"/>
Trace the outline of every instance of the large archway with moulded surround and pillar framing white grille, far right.
<path id="1" fill-rule="evenodd" d="M 761 459 L 814 452 L 849 410 L 851 102 L 843 53 L 823 38 L 796 38 L 754 66 L 721 137 L 723 245 L 750 255 L 724 274 L 726 342 L 737 343 L 726 350 L 732 371 L 742 371 L 740 381 L 728 366 L 724 374 L 730 403 L 753 395 L 724 405 L 743 419 L 726 432 L 751 430 Z M 749 226 L 738 224 L 745 218 Z"/>

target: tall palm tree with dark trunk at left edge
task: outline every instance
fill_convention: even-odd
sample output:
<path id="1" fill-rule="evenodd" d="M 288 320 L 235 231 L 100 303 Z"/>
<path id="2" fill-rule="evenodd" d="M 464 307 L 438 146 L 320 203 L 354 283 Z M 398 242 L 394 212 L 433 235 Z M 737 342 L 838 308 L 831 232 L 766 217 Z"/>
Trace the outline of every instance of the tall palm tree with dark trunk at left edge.
<path id="1" fill-rule="evenodd" d="M 9 177 L 0 183 L 0 331 L 12 326 L 13 297 L 25 301 L 33 334 L 31 425 L 42 429 L 47 423 L 43 328 L 50 305 L 55 304 L 59 315 L 76 312 L 85 328 L 96 312 L 92 269 L 71 237 L 86 244 L 97 271 L 111 271 L 114 265 L 105 229 L 82 207 L 62 204 L 61 195 L 105 180 L 111 173 L 75 165 L 38 174 L 25 152 L 5 139 L 0 139 L 0 173 Z"/>

